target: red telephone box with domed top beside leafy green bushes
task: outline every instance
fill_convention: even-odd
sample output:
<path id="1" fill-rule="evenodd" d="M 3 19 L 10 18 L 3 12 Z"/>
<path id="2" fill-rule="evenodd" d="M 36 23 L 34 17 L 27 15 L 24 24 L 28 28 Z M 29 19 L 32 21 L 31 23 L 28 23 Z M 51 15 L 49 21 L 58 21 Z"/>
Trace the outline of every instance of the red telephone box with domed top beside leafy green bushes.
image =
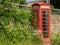
<path id="1" fill-rule="evenodd" d="M 50 5 L 36 2 L 32 5 L 32 27 L 42 32 L 43 43 L 50 42 Z"/>

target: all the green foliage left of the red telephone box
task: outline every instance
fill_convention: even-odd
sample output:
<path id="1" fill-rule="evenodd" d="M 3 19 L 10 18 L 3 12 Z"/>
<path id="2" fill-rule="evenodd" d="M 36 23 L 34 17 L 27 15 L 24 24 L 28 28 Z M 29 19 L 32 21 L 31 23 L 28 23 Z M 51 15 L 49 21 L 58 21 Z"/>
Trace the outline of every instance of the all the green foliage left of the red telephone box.
<path id="1" fill-rule="evenodd" d="M 16 42 L 25 42 L 33 44 L 38 41 L 38 32 L 31 29 L 30 9 L 9 3 L 21 3 L 24 0 L 1 0 L 0 2 L 0 42 L 6 42 L 9 45 Z M 6 3 L 9 2 L 9 3 Z M 37 33 L 37 34 L 36 34 Z M 34 35 L 35 34 L 35 35 Z M 35 41 L 35 42 L 34 42 Z M 5 45 L 2 44 L 2 45 Z M 13 44 L 11 44 L 13 45 Z"/>

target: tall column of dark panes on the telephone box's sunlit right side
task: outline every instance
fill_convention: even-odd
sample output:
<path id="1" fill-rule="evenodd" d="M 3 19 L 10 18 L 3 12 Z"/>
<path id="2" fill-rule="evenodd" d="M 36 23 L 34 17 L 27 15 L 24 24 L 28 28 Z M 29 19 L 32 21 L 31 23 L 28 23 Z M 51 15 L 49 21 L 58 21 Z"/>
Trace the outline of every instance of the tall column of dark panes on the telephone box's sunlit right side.
<path id="1" fill-rule="evenodd" d="M 43 28 L 43 37 L 47 38 L 48 37 L 48 11 L 43 11 L 42 12 L 42 28 Z"/>

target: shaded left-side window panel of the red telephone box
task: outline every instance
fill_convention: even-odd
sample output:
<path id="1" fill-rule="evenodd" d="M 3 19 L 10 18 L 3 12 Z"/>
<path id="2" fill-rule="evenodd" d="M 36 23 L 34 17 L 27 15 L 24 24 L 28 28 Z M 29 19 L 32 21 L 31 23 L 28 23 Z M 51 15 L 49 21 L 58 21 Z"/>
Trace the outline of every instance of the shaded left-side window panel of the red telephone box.
<path id="1" fill-rule="evenodd" d="M 32 8 L 33 8 L 33 12 L 32 12 L 32 15 L 33 15 L 33 22 L 34 22 L 34 29 L 37 29 L 37 26 L 38 26 L 38 9 L 39 9 L 39 7 L 40 7 L 40 5 L 38 5 L 38 4 L 34 4 L 33 6 L 32 6 Z"/>

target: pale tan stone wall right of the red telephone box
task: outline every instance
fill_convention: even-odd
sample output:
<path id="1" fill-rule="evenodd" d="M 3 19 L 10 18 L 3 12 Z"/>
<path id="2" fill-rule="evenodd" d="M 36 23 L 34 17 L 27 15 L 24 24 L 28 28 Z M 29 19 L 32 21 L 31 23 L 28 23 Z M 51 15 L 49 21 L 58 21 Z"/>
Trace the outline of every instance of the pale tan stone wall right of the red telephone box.
<path id="1" fill-rule="evenodd" d="M 60 32 L 60 15 L 51 15 L 51 32 Z"/>

